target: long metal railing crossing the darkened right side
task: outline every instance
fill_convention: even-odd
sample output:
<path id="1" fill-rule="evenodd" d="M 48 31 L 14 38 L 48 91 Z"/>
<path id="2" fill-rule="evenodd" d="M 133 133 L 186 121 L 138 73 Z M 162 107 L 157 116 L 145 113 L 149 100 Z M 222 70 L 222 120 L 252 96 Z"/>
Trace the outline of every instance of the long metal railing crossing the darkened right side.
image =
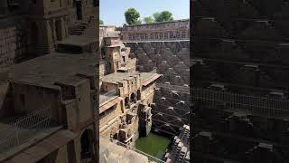
<path id="1" fill-rule="evenodd" d="M 222 105 L 228 110 L 246 110 L 252 115 L 270 117 L 289 116 L 289 101 L 271 99 L 255 95 L 245 95 L 228 91 L 212 91 L 192 88 L 192 101 L 213 109 Z"/>

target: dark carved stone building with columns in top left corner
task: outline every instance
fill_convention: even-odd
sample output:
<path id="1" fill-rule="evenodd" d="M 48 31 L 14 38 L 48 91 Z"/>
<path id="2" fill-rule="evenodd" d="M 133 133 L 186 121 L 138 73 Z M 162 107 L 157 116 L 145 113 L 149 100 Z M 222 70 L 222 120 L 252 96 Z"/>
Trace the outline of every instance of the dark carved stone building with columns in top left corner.
<path id="1" fill-rule="evenodd" d="M 96 24 L 97 0 L 0 2 L 0 67 L 55 51 L 58 41 Z"/>

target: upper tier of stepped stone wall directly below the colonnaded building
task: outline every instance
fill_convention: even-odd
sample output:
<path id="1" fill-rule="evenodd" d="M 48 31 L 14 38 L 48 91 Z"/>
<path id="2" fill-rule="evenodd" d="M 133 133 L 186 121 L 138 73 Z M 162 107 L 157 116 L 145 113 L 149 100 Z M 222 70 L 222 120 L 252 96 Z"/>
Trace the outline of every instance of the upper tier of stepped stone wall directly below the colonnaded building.
<path id="1" fill-rule="evenodd" d="M 140 72 L 163 74 L 161 82 L 172 85 L 190 82 L 190 41 L 125 42 L 131 48 L 131 56 L 137 58 Z"/>

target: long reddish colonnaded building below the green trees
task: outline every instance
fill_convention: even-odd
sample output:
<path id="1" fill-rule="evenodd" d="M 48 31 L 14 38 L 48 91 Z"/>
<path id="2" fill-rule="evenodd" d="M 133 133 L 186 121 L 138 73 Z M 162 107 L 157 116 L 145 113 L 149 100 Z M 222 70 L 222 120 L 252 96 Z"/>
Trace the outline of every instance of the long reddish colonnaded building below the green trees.
<path id="1" fill-rule="evenodd" d="M 125 24 L 121 29 L 124 41 L 189 40 L 190 20 L 175 20 L 154 24 Z"/>

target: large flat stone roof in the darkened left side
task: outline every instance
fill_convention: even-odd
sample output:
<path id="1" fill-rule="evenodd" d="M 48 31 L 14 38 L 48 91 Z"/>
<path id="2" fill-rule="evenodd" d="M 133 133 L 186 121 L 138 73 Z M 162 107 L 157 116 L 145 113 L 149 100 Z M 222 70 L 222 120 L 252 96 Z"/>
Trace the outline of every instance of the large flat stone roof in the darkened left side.
<path id="1" fill-rule="evenodd" d="M 97 61 L 96 54 L 51 53 L 15 64 L 9 79 L 45 87 L 53 87 L 55 82 L 74 85 L 84 80 L 76 76 L 78 73 L 97 75 Z"/>

